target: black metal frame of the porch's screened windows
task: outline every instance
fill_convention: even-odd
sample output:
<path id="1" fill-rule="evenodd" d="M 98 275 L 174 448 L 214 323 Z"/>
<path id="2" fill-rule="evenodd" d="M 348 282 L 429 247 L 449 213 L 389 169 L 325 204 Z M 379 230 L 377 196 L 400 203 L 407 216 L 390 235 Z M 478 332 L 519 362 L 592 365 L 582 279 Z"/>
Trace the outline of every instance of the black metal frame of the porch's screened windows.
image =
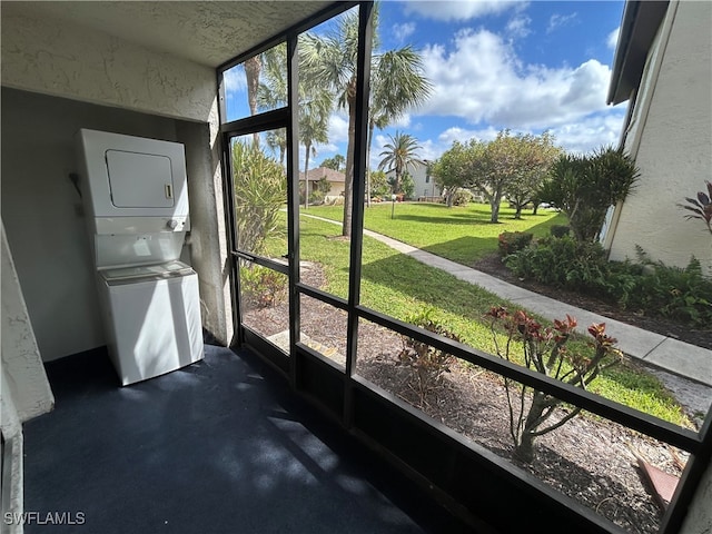
<path id="1" fill-rule="evenodd" d="M 329 295 L 323 290 L 304 285 L 299 280 L 299 214 L 298 214 L 298 65 L 296 59 L 297 38 L 310 28 L 336 17 L 344 11 L 358 6 L 359 9 L 359 49 L 357 56 L 357 109 L 356 109 L 356 138 L 354 154 L 354 185 L 353 185 L 353 214 L 352 214 L 352 239 L 350 239 L 350 270 L 349 270 L 349 291 L 348 298 L 343 299 L 334 295 Z M 705 468 L 710 465 L 712 457 L 712 414 L 708 413 L 706 418 L 699 433 L 694 433 L 676 425 L 663 422 L 656 417 L 650 416 L 642 412 L 620 405 L 606 398 L 591 394 L 586 390 L 570 386 L 560 380 L 555 380 L 536 372 L 511 364 L 502 358 L 490 355 L 473 347 L 453 342 L 447 338 L 439 337 L 422 328 L 398 320 L 388 315 L 378 313 L 360 305 L 360 269 L 362 269 L 362 251 L 363 251 L 363 227 L 364 227 L 364 202 L 359 201 L 364 198 L 365 180 L 356 179 L 364 177 L 366 174 L 366 144 L 367 144 L 367 119 L 368 119 L 368 85 L 364 80 L 369 78 L 369 58 L 372 42 L 372 23 L 373 2 L 335 2 L 325 8 L 316 16 L 303 21 L 301 23 L 290 28 L 289 30 L 275 36 L 274 39 L 261 43 L 260 46 L 243 53 L 233 60 L 224 63 L 217 69 L 218 92 L 219 92 L 219 113 L 220 113 L 220 140 L 222 144 L 222 174 L 224 174 L 224 197 L 226 221 L 229 228 L 228 244 L 229 254 L 233 258 L 230 263 L 230 283 L 234 298 L 236 343 L 247 345 L 255 349 L 258 354 L 281 370 L 289 379 L 291 386 L 301 393 L 306 398 L 312 400 L 317 407 L 322 408 L 338 424 L 343 425 L 353 435 L 364 441 L 364 443 L 377 451 L 380 451 L 387 458 L 392 459 L 396 465 L 400 466 L 409 474 L 415 482 L 433 487 L 433 479 L 437 478 L 436 474 L 432 476 L 423 475 L 424 471 L 428 471 L 428 466 L 422 468 L 413 468 L 408 465 L 408 459 L 394 453 L 388 445 L 384 445 L 384 436 L 374 437 L 366 429 L 370 423 L 363 423 L 363 416 L 357 409 L 357 404 L 370 405 L 369 403 L 380 403 L 394 418 L 399 418 L 398 424 L 412 424 L 413 432 L 424 431 L 431 438 L 436 436 L 433 442 L 434 446 L 439 446 L 441 442 L 446 443 L 446 447 L 455 455 L 456 461 L 461 461 L 463 454 L 471 459 L 467 465 L 483 465 L 486 469 L 494 469 L 494 475 L 502 479 L 508 481 L 515 486 L 523 485 L 523 492 L 533 492 L 541 500 L 553 502 L 555 512 L 560 514 L 558 521 L 562 522 L 562 528 L 566 524 L 584 527 L 585 532 L 617 532 L 606 522 L 601 521 L 592 512 L 572 504 L 567 498 L 562 497 L 556 492 L 552 492 L 542 483 L 532 479 L 521 473 L 514 473 L 512 466 L 503 458 L 495 457 L 483 451 L 482 447 L 473 445 L 471 442 L 455 435 L 451 429 L 439 425 L 429 418 L 423 416 L 418 411 L 405 405 L 395 396 L 387 392 L 380 390 L 375 385 L 363 379 L 355 374 L 355 363 L 358 348 L 358 323 L 360 319 L 376 323 L 380 326 L 389 328 L 398 334 L 413 337 L 423 343 L 427 343 L 438 349 L 448 352 L 459 359 L 469 362 L 474 365 L 484 367 L 503 377 L 507 377 L 525 384 L 535 389 L 554 395 L 566 403 L 581 406 L 582 408 L 600 415 L 605 419 L 621 424 L 627 428 L 637 431 L 654 439 L 668 443 L 679 447 L 691 454 L 688 466 L 682 475 L 679 488 L 670 503 L 665 515 L 663 516 L 660 532 L 662 534 L 673 534 L 678 532 L 684 521 L 686 510 L 692 502 L 694 493 L 704 474 Z M 277 43 L 287 43 L 288 58 L 288 103 L 285 108 L 267 111 L 244 119 L 224 122 L 226 115 L 226 95 L 222 75 L 231 67 L 244 62 L 246 59 L 260 53 Z M 249 135 L 254 132 L 265 131 L 275 128 L 287 129 L 287 196 L 288 196 L 288 264 L 275 263 L 269 258 L 250 255 L 245 251 L 237 250 L 237 238 L 235 235 L 235 212 L 233 205 L 233 181 L 230 179 L 230 139 L 236 136 Z M 289 277 L 289 328 L 290 328 L 290 356 L 289 358 L 280 358 L 274 353 L 274 347 L 268 343 L 260 340 L 259 336 L 250 332 L 241 324 L 240 306 L 239 306 L 239 258 L 248 259 L 256 264 L 278 270 Z M 346 366 L 345 372 L 336 367 L 330 360 L 323 357 L 317 352 L 307 347 L 298 340 L 299 336 L 299 296 L 306 295 L 316 298 L 338 309 L 347 313 L 347 348 L 346 348 Z M 326 386 L 324 384 L 327 384 Z M 415 435 L 415 434 L 414 434 Z M 423 436 L 422 434 L 417 434 Z M 439 439 L 439 441 L 438 441 Z M 454 461 L 455 462 L 455 461 Z M 451 477 L 452 478 L 452 477 Z M 473 483 L 475 483 L 473 481 Z M 446 484 L 445 484 L 446 485 Z M 437 486 L 437 481 L 435 481 Z M 454 503 L 455 507 L 462 505 L 462 500 L 452 495 L 456 491 L 448 488 L 441 490 L 435 487 L 434 494 L 438 498 Z M 464 505 L 466 507 L 466 505 Z M 482 512 L 478 510 L 469 510 L 463 512 L 456 510 L 456 513 L 464 515 L 469 521 Z M 565 521 L 564 521 L 565 517 Z M 570 523 L 566 523 L 568 521 Z M 496 521 L 495 521 L 496 523 Z M 540 525 L 544 527 L 545 525 Z M 551 526 L 551 525 L 550 525 Z M 580 531 L 580 532 L 584 532 Z M 554 532 L 554 531 L 550 531 Z M 563 531 L 562 531 L 563 532 Z"/>

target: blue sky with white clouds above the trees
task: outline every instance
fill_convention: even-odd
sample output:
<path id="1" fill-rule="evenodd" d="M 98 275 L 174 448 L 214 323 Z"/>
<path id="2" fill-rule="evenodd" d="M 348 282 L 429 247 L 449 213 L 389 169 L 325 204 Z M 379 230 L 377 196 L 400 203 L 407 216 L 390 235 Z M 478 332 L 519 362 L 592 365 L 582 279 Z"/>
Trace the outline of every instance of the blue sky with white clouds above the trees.
<path id="1" fill-rule="evenodd" d="M 550 130 L 571 151 L 617 145 L 626 103 L 610 107 L 605 97 L 623 6 L 623 1 L 380 2 L 379 49 L 414 46 L 434 91 L 422 107 L 376 130 L 372 167 L 396 130 L 415 137 L 421 158 L 429 160 L 454 140 L 490 140 L 504 128 L 523 134 Z M 346 132 L 345 112 L 334 113 L 329 142 L 316 147 L 314 166 L 346 154 Z"/>

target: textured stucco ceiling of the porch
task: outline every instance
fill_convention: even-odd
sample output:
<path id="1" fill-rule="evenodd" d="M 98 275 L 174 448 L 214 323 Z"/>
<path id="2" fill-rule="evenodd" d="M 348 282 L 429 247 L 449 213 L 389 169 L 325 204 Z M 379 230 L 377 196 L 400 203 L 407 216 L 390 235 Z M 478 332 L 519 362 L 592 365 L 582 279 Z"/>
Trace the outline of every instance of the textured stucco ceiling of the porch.
<path id="1" fill-rule="evenodd" d="M 217 67 L 332 1 L 2 2 L 2 14 L 72 21 L 151 50 Z"/>

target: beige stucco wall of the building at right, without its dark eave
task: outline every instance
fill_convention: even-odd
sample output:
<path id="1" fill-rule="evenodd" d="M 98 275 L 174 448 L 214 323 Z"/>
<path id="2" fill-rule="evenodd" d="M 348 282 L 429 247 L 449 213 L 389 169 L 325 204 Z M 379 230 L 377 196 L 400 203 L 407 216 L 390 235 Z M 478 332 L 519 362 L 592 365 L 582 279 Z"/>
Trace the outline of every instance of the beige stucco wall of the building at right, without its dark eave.
<path id="1" fill-rule="evenodd" d="M 712 275 L 712 236 L 678 206 L 712 177 L 711 24 L 711 2 L 671 2 L 655 41 L 663 53 L 649 62 L 626 138 L 641 179 L 619 207 L 612 259 L 634 259 L 640 245 L 666 265 L 694 255 Z"/>

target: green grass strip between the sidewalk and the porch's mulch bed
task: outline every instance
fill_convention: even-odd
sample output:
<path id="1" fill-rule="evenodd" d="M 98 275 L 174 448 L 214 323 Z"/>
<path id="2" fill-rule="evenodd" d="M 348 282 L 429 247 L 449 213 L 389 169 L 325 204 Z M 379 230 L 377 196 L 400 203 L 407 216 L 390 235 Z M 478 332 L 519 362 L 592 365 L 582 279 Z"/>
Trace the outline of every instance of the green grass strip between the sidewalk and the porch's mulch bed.
<path id="1" fill-rule="evenodd" d="M 396 206 L 406 208 L 408 205 Z M 423 209 L 424 206 L 419 206 Z M 434 206 L 435 207 L 435 206 Z M 370 208 L 369 217 L 379 220 L 377 214 L 383 207 Z M 428 208 L 426 208 L 428 209 Z M 446 209 L 446 208 L 445 208 Z M 464 208 L 467 209 L 467 208 Z M 312 215 L 323 215 L 326 209 L 309 209 Z M 335 211 L 336 212 L 336 211 Z M 433 210 L 436 214 L 439 211 Z M 457 210 L 457 212 L 465 212 Z M 443 211 L 443 214 L 446 214 Z M 389 215 L 388 215 L 389 216 Z M 443 218 L 446 219 L 445 215 Z M 532 219 L 534 219 L 532 217 Z M 537 230 L 555 219 L 551 214 L 541 216 Z M 536 218 L 538 219 L 538 216 Z M 513 222 L 513 221 L 510 221 Z M 439 222 L 447 226 L 447 222 Z M 412 227 L 426 226 L 411 221 Z M 452 225 L 456 226 L 456 225 Z M 505 225 L 481 225 L 482 227 Z M 402 229 L 405 226 L 400 227 Z M 427 234 L 412 230 L 413 235 Z M 393 233 L 389 233 L 392 236 Z M 300 256 L 303 260 L 319 263 L 326 274 L 324 289 L 334 295 L 347 298 L 349 243 L 340 239 L 340 226 L 303 217 L 300 219 Z M 281 249 L 283 240 L 273 241 L 270 248 Z M 496 238 L 495 238 L 496 248 Z M 446 324 L 457 333 L 464 343 L 487 353 L 494 352 L 494 343 L 488 327 L 482 320 L 483 315 L 500 304 L 507 305 L 500 297 L 477 286 L 458 280 L 439 269 L 426 266 L 416 259 L 396 253 L 375 239 L 364 237 L 362 261 L 362 304 L 405 320 L 419 309 L 433 309 L 433 318 Z M 514 309 L 514 306 L 510 306 Z M 546 323 L 542 319 L 542 323 Z M 587 350 L 587 343 L 582 339 L 572 343 L 570 350 Z M 641 409 L 678 425 L 689 425 L 681 407 L 661 386 L 660 382 L 645 373 L 619 366 L 604 373 L 590 388 L 606 398 L 626 406 Z"/>

